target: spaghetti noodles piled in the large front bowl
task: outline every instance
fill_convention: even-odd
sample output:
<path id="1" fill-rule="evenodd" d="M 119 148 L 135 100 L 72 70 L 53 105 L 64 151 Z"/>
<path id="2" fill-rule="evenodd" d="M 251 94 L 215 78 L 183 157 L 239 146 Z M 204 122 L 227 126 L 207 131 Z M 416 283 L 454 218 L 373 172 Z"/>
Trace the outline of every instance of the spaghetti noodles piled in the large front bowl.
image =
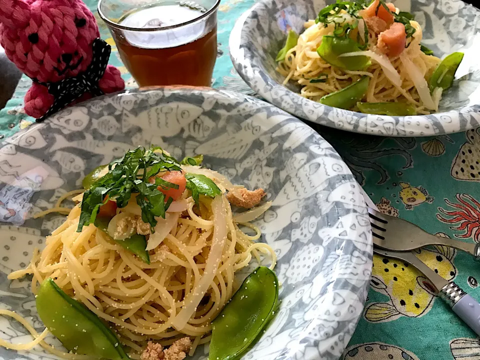
<path id="1" fill-rule="evenodd" d="M 183 176 L 181 171 L 178 173 Z M 217 180 L 215 172 L 204 170 L 203 173 L 211 177 L 209 181 Z M 220 181 L 224 186 L 237 188 L 225 179 Z M 35 249 L 29 265 L 11 272 L 8 278 L 32 274 L 34 294 L 38 284 L 53 279 L 67 295 L 108 322 L 120 342 L 130 348 L 132 358 L 138 357 L 135 352 L 145 348 L 149 340 L 165 346 L 185 336 L 192 340 L 190 353 L 193 353 L 198 344 L 208 341 L 211 321 L 236 290 L 235 272 L 248 266 L 252 257 L 258 262 L 267 259 L 273 268 L 276 255 L 269 245 L 255 242 L 260 237 L 255 225 L 234 220 L 225 190 L 196 199 L 190 190 L 182 191 L 175 199 L 179 211 L 168 212 L 166 220 L 159 217 L 155 232 L 150 233 L 148 227 L 148 245 L 144 246 L 148 261 L 122 246 L 119 241 L 124 236 L 117 233 L 125 227 L 130 235 L 134 229 L 140 229 L 140 223 L 145 225 L 138 215 L 143 209 L 130 201 L 128 206 L 116 209 L 108 229 L 96 223 L 79 227 L 82 203 L 71 210 L 61 207 L 63 199 L 80 192 L 71 191 L 63 195 L 54 208 L 38 215 L 54 210 L 68 211 L 65 221 L 46 237 L 41 251 Z M 85 201 L 86 195 L 82 198 Z M 130 212 L 135 206 L 134 213 Z M 257 211 L 256 216 L 263 211 Z M 116 230 L 110 229 L 115 218 L 118 219 L 114 223 Z M 122 222 L 128 222 L 128 226 Z M 254 234 L 243 232 L 241 226 L 253 230 Z M 38 334 L 17 314 L 7 310 L 1 310 L 0 314 L 20 321 L 34 337 L 26 344 L 1 340 L 0 345 L 31 349 L 40 344 L 61 357 L 83 360 L 81 356 L 63 353 L 46 344 L 43 339 L 47 329 Z"/>

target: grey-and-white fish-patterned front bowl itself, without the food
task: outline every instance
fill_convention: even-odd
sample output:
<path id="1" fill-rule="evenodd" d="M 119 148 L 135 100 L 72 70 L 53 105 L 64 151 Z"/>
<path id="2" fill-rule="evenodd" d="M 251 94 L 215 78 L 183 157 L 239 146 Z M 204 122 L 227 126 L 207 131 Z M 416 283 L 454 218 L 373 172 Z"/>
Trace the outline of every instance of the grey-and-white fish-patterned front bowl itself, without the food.
<path id="1" fill-rule="evenodd" d="M 204 166 L 273 202 L 256 224 L 277 256 L 279 311 L 243 359 L 336 359 L 364 306 L 372 239 L 361 190 L 336 151 L 309 126 L 249 96 L 211 89 L 160 88 L 107 95 L 30 125 L 0 146 L 0 308 L 42 330 L 28 279 L 6 275 L 28 264 L 64 217 L 32 214 L 77 189 L 85 173 L 137 145 L 176 158 L 202 153 Z M 67 202 L 68 203 L 68 202 Z M 0 316 L 0 337 L 26 342 Z M 208 348 L 194 359 L 206 359 Z M 37 359 L 0 347 L 0 359 Z"/>

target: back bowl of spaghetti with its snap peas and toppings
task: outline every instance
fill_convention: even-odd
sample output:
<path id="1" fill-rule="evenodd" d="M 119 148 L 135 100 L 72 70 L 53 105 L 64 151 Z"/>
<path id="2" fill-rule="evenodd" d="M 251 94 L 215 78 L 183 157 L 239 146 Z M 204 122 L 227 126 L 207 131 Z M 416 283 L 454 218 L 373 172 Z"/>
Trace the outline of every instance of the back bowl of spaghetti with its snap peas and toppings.
<path id="1" fill-rule="evenodd" d="M 250 87 L 304 119 L 380 135 L 458 132 L 480 120 L 478 16 L 459 0 L 263 0 L 238 19 L 230 53 Z"/>

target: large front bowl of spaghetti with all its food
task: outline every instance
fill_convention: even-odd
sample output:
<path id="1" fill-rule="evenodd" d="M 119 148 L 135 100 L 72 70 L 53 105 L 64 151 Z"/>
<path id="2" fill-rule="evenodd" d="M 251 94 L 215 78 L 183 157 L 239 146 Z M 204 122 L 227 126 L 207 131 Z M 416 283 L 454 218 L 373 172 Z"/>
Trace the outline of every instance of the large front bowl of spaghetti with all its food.
<path id="1" fill-rule="evenodd" d="M 159 88 L 0 147 L 0 358 L 337 359 L 372 241 L 361 189 L 288 113 Z"/>

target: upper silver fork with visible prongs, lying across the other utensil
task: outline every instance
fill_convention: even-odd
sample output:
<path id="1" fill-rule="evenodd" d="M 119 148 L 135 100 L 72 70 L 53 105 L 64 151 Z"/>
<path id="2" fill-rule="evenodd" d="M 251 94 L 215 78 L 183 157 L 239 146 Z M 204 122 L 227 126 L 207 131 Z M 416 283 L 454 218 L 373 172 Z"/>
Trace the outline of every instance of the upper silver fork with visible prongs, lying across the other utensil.
<path id="1" fill-rule="evenodd" d="M 420 227 L 398 217 L 385 215 L 368 208 L 373 243 L 394 251 L 410 251 L 426 245 L 444 245 L 466 251 L 480 260 L 480 243 L 463 242 L 432 235 Z"/>

